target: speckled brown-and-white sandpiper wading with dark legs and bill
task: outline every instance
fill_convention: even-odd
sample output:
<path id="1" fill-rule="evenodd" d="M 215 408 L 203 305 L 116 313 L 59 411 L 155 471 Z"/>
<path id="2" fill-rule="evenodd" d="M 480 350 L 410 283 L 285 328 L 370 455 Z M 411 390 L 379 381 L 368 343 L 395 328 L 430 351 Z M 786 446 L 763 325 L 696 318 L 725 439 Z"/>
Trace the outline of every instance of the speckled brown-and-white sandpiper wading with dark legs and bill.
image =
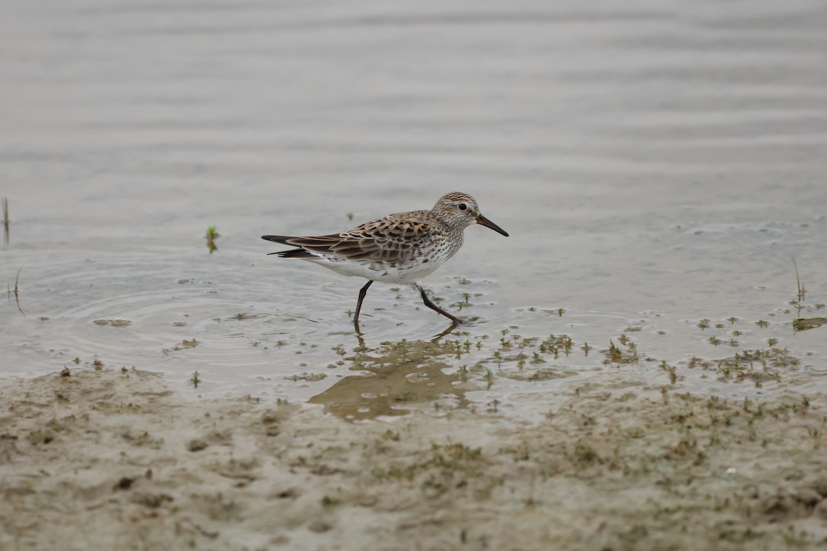
<path id="1" fill-rule="evenodd" d="M 481 224 L 502 235 L 508 234 L 480 214 L 474 197 L 451 192 L 430 211 L 397 212 L 356 226 L 341 234 L 315 237 L 262 235 L 261 239 L 297 249 L 270 253 L 283 259 L 304 259 L 347 276 L 367 278 L 359 291 L 353 325 L 359 330 L 359 311 L 367 288 L 375 281 L 413 285 L 425 306 L 446 316 L 455 324 L 461 320 L 431 302 L 422 278 L 450 259 L 462 246 L 462 231 Z"/>

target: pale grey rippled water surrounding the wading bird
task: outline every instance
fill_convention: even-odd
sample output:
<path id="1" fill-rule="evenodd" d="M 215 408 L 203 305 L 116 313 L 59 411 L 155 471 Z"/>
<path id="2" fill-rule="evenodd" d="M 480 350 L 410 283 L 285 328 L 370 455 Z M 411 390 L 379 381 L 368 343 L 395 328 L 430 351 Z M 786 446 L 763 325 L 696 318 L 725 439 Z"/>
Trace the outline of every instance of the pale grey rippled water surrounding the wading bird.
<path id="1" fill-rule="evenodd" d="M 370 357 L 404 375 L 436 366 L 446 397 L 458 385 L 527 418 L 630 373 L 724 397 L 827 391 L 825 328 L 794 335 L 789 305 L 791 257 L 801 315 L 827 302 L 820 0 L 13 1 L 0 76 L 0 275 L 14 287 L 22 268 L 25 312 L 13 296 L 2 309 L 0 375 L 100 359 L 194 396 L 304 401 Z M 441 341 L 474 344 L 458 357 L 419 343 L 400 360 L 447 328 L 407 288 L 371 287 L 361 344 L 347 311 L 364 280 L 267 257 L 280 245 L 259 238 L 347 230 L 455 190 L 511 234 L 469 228 L 425 281 L 443 306 L 471 293 L 463 315 L 480 319 Z M 498 350 L 504 329 L 574 346 L 518 367 L 500 362 L 517 353 Z M 624 332 L 638 363 L 603 363 Z M 800 363 L 762 387 L 686 366 L 767 339 Z M 463 365 L 476 371 L 460 382 Z"/>

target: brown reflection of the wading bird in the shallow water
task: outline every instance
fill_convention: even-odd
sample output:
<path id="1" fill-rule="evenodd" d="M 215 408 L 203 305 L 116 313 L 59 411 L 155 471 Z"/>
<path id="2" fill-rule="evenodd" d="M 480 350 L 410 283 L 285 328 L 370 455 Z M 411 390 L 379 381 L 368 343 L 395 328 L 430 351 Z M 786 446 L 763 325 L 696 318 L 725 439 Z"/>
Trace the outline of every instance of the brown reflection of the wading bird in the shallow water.
<path id="1" fill-rule="evenodd" d="M 453 328 L 453 326 L 452 326 Z M 310 398 L 326 411 L 346 420 L 366 420 L 377 416 L 401 416 L 416 407 L 456 409 L 465 407 L 465 391 L 457 389 L 456 373 L 443 370 L 457 359 L 457 344 L 442 340 L 400 340 L 368 348 L 361 335 L 352 356 L 347 356 L 358 372 L 342 378 L 326 391 Z"/>

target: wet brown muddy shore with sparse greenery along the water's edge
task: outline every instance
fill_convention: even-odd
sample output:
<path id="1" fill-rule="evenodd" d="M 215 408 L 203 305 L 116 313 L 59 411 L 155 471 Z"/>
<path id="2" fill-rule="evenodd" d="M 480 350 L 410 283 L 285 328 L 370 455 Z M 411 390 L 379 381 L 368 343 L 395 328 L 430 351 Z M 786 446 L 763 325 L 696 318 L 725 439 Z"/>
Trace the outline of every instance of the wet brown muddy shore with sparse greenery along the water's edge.
<path id="1" fill-rule="evenodd" d="M 2 549 L 816 549 L 827 397 L 620 376 L 546 419 L 185 400 L 163 376 L 0 381 Z"/>

